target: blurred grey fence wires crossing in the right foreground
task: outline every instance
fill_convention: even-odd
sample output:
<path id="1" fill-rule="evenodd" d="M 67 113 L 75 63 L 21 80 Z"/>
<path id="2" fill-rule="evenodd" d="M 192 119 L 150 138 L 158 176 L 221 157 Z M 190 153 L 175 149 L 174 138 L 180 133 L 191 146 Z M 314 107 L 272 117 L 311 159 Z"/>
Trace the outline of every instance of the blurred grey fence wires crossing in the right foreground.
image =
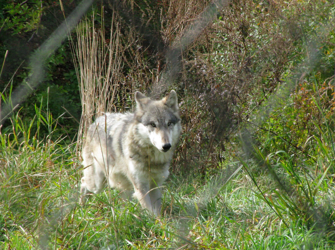
<path id="1" fill-rule="evenodd" d="M 334 19 L 331 19 L 324 26 L 320 26 L 319 30 L 316 30 L 315 33 L 327 34 L 333 29 L 333 21 Z M 241 135 L 240 140 L 243 145 L 241 150 L 236 150 L 237 158 L 240 160 L 241 164 L 239 164 L 239 166 L 228 166 L 227 169 L 222 171 L 221 178 L 217 178 L 213 181 L 213 183 L 211 183 L 212 190 L 199 199 L 200 204 L 198 205 L 198 207 L 200 206 L 200 209 L 202 209 L 205 204 L 208 203 L 211 199 L 216 197 L 220 190 L 222 190 L 224 186 L 229 182 L 229 180 L 237 175 L 237 173 L 239 172 L 239 170 L 242 169 L 243 166 L 249 164 L 246 163 L 249 161 L 251 161 L 252 164 L 257 165 L 260 168 L 266 168 L 268 170 L 269 176 L 277 183 L 278 189 L 280 189 L 281 192 L 286 193 L 288 197 L 293 201 L 293 204 L 294 201 L 299 199 L 296 191 L 287 185 L 288 181 L 286 181 L 282 176 L 279 177 L 273 167 L 268 162 L 266 162 L 266 160 L 264 160 L 261 155 L 259 155 L 253 143 L 252 135 L 256 131 L 256 128 L 262 126 L 262 123 L 264 123 L 271 116 L 274 110 L 285 105 L 287 99 L 290 97 L 292 91 L 295 89 L 299 81 L 304 76 L 313 73 L 313 68 L 318 63 L 320 63 L 321 56 L 318 49 L 320 47 L 319 39 L 321 38 L 317 37 L 308 40 L 305 37 L 305 58 L 299 65 L 297 65 L 294 70 L 292 70 L 291 77 L 289 77 L 285 83 L 282 83 L 277 91 L 268 98 L 268 101 L 266 103 L 264 103 L 265 105 L 259 107 L 258 111 L 254 113 L 254 118 L 252 120 L 255 126 L 251 128 L 249 126 L 247 128 L 246 125 L 242 125 L 236 126 L 234 128 L 235 132 L 237 132 L 236 130 L 239 130 L 239 133 Z M 240 153 L 238 153 L 239 151 Z M 249 172 L 248 169 L 246 169 L 246 171 L 248 175 L 250 175 L 255 185 L 258 187 L 257 182 L 253 177 L 253 174 Z M 259 189 L 259 191 L 260 193 L 262 193 L 262 190 Z M 327 232 L 325 230 L 327 227 L 327 223 L 323 219 L 325 216 L 322 207 L 319 207 L 316 204 L 312 205 L 307 200 L 301 201 L 301 203 L 305 206 L 305 208 L 308 208 L 307 211 L 310 213 L 311 217 L 315 218 L 315 221 L 319 222 L 319 227 L 315 228 L 316 232 L 320 235 L 325 234 Z M 270 203 L 268 204 L 272 208 Z M 190 209 L 189 213 L 189 216 L 192 216 L 192 214 L 194 213 L 194 209 Z"/>

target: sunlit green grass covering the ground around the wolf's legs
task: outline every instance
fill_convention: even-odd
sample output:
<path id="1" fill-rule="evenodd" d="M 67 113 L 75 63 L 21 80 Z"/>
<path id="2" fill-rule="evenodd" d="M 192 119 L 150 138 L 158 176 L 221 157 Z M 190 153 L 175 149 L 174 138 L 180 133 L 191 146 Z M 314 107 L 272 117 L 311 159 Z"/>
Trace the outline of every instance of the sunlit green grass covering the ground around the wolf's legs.
<path id="1" fill-rule="evenodd" d="M 42 113 L 41 126 L 48 124 Z M 77 203 L 82 166 L 75 145 L 38 141 L 19 116 L 12 123 L 13 132 L 0 137 L 1 249 L 334 248 L 334 144 L 327 126 L 305 142 L 314 143 L 308 154 L 289 155 L 275 148 L 279 139 L 264 137 L 269 153 L 250 144 L 203 176 L 172 174 L 163 215 L 154 218 L 114 190 Z"/>

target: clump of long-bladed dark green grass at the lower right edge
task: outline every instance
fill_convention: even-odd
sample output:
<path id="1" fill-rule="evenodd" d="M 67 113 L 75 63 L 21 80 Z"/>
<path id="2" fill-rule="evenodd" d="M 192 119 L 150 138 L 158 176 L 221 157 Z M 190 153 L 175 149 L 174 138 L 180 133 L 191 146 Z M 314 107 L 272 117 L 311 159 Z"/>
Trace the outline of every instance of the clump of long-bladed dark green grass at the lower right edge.
<path id="1" fill-rule="evenodd" d="M 263 133 L 265 140 L 261 146 L 256 146 L 250 135 L 243 136 L 241 140 L 244 145 L 244 155 L 238 158 L 256 187 L 254 194 L 268 204 L 272 209 L 273 217 L 280 218 L 287 227 L 292 220 L 299 222 L 301 226 L 312 229 L 318 237 L 324 237 L 333 242 L 335 240 L 335 200 L 332 190 L 334 189 L 335 151 L 334 130 L 329 126 L 333 121 L 326 119 L 329 117 L 326 113 L 330 112 L 330 108 L 320 105 L 321 92 L 318 86 L 324 84 L 317 82 L 313 70 L 311 74 L 314 92 L 310 99 L 316 105 L 314 111 L 319 113 L 322 121 L 319 123 L 319 120 L 315 120 L 309 124 L 309 130 L 311 128 L 315 130 L 311 130 L 313 135 L 305 137 L 303 147 L 298 148 L 300 152 L 288 154 L 288 151 L 281 148 L 281 145 L 287 144 L 287 140 L 277 135 L 272 137 L 269 136 L 270 133 Z M 300 110 L 300 112 L 304 111 L 304 109 Z M 287 114 L 287 116 L 290 115 Z M 272 145 L 270 152 L 267 145 Z M 297 149 L 293 146 L 292 148 Z M 304 152 L 306 148 L 308 152 Z M 264 174 L 271 180 L 270 185 L 266 187 L 260 185 L 256 177 Z"/>

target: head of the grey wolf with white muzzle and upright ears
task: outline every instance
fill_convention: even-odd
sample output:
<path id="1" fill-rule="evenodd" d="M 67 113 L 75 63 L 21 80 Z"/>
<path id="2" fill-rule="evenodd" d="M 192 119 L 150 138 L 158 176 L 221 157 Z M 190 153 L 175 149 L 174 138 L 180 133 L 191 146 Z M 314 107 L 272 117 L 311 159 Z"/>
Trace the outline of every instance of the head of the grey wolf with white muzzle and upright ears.
<path id="1" fill-rule="evenodd" d="M 181 131 L 177 94 L 174 90 L 163 99 L 155 101 L 140 92 L 135 93 L 135 117 L 143 139 L 161 152 L 173 148 Z"/>

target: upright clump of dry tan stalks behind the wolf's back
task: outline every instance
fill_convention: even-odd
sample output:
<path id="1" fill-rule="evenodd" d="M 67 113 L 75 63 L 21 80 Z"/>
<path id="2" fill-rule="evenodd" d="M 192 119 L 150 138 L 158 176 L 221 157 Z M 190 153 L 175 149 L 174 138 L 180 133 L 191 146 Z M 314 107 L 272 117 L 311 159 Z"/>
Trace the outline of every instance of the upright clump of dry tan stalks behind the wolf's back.
<path id="1" fill-rule="evenodd" d="M 82 105 L 78 149 L 92 116 L 96 118 L 116 110 L 114 101 L 122 78 L 124 49 L 120 45 L 120 26 L 114 23 L 114 18 L 109 39 L 106 39 L 104 29 L 96 28 L 94 22 L 87 19 L 77 26 L 76 32 L 76 64 L 79 66 L 76 68 L 80 70 L 77 76 Z"/>

